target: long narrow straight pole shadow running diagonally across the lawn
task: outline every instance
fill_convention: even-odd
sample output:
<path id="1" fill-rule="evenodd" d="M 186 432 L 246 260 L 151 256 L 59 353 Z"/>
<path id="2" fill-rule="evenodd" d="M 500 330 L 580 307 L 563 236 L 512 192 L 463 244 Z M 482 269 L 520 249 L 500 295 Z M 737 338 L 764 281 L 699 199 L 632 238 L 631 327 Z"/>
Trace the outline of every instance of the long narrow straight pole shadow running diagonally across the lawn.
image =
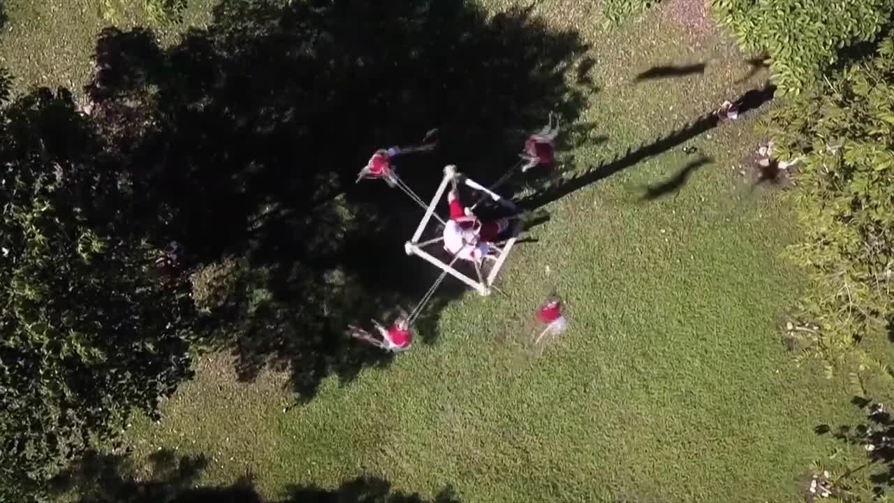
<path id="1" fill-rule="evenodd" d="M 749 90 L 746 92 L 736 101 L 739 115 L 741 116 L 770 101 L 775 90 L 775 86 L 768 84 L 760 90 Z M 696 119 L 695 122 L 686 124 L 679 130 L 662 136 L 651 143 L 640 145 L 637 149 L 628 148 L 622 156 L 603 161 L 585 173 L 553 183 L 544 191 L 520 200 L 519 204 L 526 209 L 541 208 L 555 200 L 560 200 L 572 192 L 577 192 L 591 183 L 598 182 L 628 167 L 635 166 L 647 158 L 653 158 L 662 152 L 678 147 L 696 136 L 717 127 L 719 122 L 717 115 L 714 112 L 709 112 Z"/>

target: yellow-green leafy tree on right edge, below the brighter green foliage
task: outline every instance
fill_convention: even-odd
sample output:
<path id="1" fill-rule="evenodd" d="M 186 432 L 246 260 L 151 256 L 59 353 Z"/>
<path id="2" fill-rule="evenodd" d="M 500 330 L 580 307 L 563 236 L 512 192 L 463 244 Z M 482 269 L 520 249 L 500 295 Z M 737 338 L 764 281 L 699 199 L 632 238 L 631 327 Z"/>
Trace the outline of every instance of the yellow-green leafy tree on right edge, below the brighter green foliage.
<path id="1" fill-rule="evenodd" d="M 812 286 L 797 318 L 809 354 L 885 372 L 861 345 L 888 337 L 894 315 L 894 42 L 841 72 L 825 90 L 772 112 L 780 159 L 805 156 L 791 192 L 805 239 L 790 250 Z M 861 344 L 862 343 L 862 344 Z"/>

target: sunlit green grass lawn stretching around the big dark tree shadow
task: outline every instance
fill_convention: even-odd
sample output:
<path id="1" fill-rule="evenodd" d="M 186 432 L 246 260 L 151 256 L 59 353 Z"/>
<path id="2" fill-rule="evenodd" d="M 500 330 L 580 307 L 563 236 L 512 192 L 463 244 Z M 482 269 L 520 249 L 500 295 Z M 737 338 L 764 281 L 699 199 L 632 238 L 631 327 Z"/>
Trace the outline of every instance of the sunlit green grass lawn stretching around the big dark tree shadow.
<path id="1" fill-rule="evenodd" d="M 592 84 L 576 84 L 589 93 L 578 124 L 588 130 L 562 154 L 566 176 L 629 158 L 763 83 L 745 80 L 745 56 L 682 1 L 619 29 L 603 28 L 598 2 L 537 4 L 593 47 Z M 0 54 L 21 81 L 86 79 L 103 21 L 75 4 L 77 23 L 51 1 L 8 5 Z M 655 65 L 700 63 L 701 73 L 636 81 Z M 289 406 L 282 374 L 240 383 L 227 355 L 205 357 L 161 422 L 135 421 L 135 456 L 204 454 L 201 482 L 251 473 L 271 499 L 370 474 L 426 498 L 452 487 L 464 501 L 795 500 L 797 475 L 840 448 L 814 427 L 855 418 L 845 382 L 796 368 L 779 343 L 802 278 L 780 259 L 794 239 L 789 207 L 739 172 L 760 140 L 756 115 L 552 201 L 539 241 L 519 245 L 502 274 L 510 298 L 466 295 L 443 313 L 436 344 L 347 386 L 328 380 L 308 405 Z M 678 192 L 642 200 L 702 156 L 710 162 Z M 535 349 L 528 320 L 551 289 L 571 325 Z"/>

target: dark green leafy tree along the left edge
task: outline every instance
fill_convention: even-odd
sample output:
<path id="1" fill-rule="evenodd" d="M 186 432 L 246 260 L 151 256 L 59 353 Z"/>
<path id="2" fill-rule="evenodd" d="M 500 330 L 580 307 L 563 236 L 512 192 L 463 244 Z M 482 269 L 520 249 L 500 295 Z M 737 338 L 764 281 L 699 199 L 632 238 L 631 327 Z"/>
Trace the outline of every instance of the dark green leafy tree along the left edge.
<path id="1" fill-rule="evenodd" d="M 0 130 L 0 487 L 34 486 L 152 413 L 189 372 L 188 291 L 163 288 L 127 194 L 71 95 L 38 90 Z M 4 492 L 0 491 L 0 499 Z"/>

